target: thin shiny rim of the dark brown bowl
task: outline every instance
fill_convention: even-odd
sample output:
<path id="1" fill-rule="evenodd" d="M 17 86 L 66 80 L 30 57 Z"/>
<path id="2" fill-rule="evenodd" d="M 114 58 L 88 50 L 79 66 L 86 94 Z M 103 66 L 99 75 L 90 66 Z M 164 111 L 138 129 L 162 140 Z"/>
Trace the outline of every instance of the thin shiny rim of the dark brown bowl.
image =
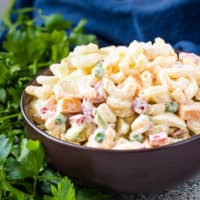
<path id="1" fill-rule="evenodd" d="M 33 79 L 35 80 L 35 79 Z M 22 116 L 24 118 L 24 120 L 29 124 L 29 126 L 34 129 L 34 131 L 36 131 L 37 133 L 39 133 L 40 135 L 42 135 L 43 137 L 52 140 L 53 142 L 56 142 L 60 145 L 64 145 L 64 146 L 70 146 L 79 150 L 84 150 L 84 151 L 94 151 L 94 152 L 107 152 L 107 153 L 143 153 L 143 152 L 154 152 L 154 151 L 159 151 L 159 150 L 169 150 L 172 149 L 173 147 L 177 147 L 177 146 L 181 146 L 190 142 L 193 142 L 194 140 L 200 138 L 200 135 L 195 135 L 192 136 L 188 139 L 184 139 L 182 141 L 178 141 L 172 144 L 168 144 L 168 145 L 164 145 L 161 147 L 154 147 L 154 148 L 148 148 L 148 149 L 101 149 L 101 148 L 94 148 L 94 147 L 87 147 L 87 146 L 82 146 L 79 144 L 74 144 L 74 143 L 70 143 L 67 141 L 63 141 L 61 139 L 58 139 L 44 131 L 42 131 L 41 129 L 39 129 L 33 122 L 32 120 L 28 117 L 26 111 L 25 111 L 25 98 L 28 97 L 28 94 L 25 92 L 25 90 L 23 91 L 22 95 L 21 95 L 21 99 L 20 99 L 20 109 L 21 109 L 21 113 Z"/>

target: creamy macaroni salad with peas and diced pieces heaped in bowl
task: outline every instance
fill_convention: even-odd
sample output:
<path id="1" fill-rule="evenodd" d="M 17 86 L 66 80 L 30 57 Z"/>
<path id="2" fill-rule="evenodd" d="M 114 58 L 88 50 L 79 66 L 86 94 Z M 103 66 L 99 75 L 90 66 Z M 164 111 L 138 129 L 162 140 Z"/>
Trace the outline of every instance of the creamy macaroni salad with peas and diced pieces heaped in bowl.
<path id="1" fill-rule="evenodd" d="M 64 141 L 104 149 L 159 147 L 200 134 L 200 57 L 161 38 L 78 46 L 28 86 L 30 116 Z"/>

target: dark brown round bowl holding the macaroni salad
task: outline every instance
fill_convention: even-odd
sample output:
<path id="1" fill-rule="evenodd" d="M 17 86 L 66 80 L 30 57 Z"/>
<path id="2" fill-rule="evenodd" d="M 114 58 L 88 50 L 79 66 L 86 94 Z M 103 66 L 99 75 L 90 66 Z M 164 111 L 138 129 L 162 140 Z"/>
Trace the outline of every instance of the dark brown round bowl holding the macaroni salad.
<path id="1" fill-rule="evenodd" d="M 31 84 L 36 84 L 35 80 Z M 28 137 L 40 140 L 48 163 L 77 182 L 117 192 L 158 191 L 184 181 L 200 169 L 200 136 L 146 150 L 84 147 L 38 129 L 28 116 L 30 100 L 24 92 L 21 112 Z"/>

